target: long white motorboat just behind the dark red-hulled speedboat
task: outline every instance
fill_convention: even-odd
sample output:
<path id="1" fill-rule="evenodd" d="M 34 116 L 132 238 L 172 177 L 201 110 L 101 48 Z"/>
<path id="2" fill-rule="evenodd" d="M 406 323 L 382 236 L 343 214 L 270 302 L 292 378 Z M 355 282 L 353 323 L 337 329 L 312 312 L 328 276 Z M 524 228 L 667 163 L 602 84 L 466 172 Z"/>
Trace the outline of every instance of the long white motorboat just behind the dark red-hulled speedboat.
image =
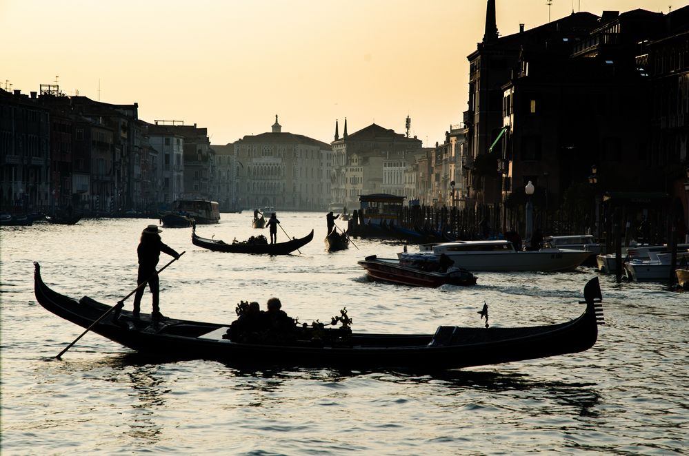
<path id="1" fill-rule="evenodd" d="M 445 254 L 469 271 L 569 271 L 590 256 L 588 251 L 544 247 L 517 251 L 508 240 L 460 240 L 419 246 L 422 255 Z M 402 253 L 397 256 L 401 258 Z"/>

